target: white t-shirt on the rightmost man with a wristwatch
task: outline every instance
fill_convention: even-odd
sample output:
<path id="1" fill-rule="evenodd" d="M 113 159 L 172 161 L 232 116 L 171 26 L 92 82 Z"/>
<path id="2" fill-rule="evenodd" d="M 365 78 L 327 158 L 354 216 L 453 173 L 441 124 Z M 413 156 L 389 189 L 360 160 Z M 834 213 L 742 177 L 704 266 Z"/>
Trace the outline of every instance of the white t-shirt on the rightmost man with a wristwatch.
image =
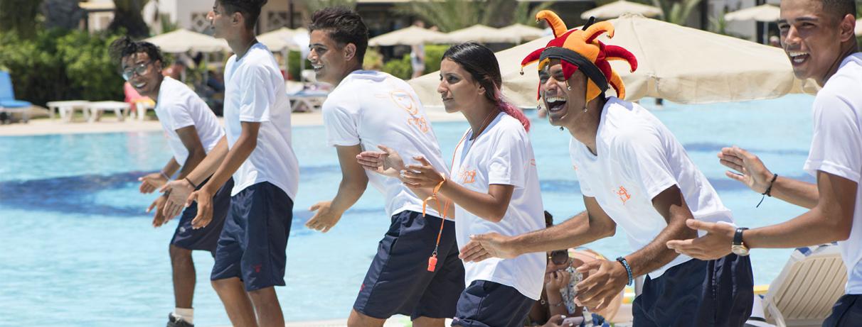
<path id="1" fill-rule="evenodd" d="M 804 170 L 862 182 L 862 53 L 841 61 L 814 100 L 814 138 Z M 856 188 L 850 238 L 839 242 L 847 294 L 862 294 L 862 185 Z"/>

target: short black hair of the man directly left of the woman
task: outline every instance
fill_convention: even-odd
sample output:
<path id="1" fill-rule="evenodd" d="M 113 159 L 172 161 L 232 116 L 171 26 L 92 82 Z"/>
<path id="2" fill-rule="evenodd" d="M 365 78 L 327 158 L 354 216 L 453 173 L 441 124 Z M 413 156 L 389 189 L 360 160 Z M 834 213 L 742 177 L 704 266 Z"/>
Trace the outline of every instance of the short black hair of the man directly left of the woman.
<path id="1" fill-rule="evenodd" d="M 328 36 L 340 46 L 353 43 L 356 46 L 356 59 L 362 64 L 365 49 L 368 48 L 368 27 L 362 17 L 351 9 L 329 7 L 320 9 L 311 16 L 309 33 L 315 30 L 327 32 Z"/>

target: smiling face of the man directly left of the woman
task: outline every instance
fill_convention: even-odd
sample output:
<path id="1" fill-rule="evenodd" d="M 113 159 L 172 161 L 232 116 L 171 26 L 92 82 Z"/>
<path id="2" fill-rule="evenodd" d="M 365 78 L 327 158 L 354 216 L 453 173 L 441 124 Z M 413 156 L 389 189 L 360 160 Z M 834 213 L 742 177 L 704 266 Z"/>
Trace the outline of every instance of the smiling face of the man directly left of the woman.
<path id="1" fill-rule="evenodd" d="M 347 76 L 352 56 L 347 55 L 347 46 L 339 46 L 323 29 L 315 29 L 309 34 L 309 56 L 311 67 L 318 81 L 338 85 Z M 354 46 L 355 47 L 355 46 Z"/>

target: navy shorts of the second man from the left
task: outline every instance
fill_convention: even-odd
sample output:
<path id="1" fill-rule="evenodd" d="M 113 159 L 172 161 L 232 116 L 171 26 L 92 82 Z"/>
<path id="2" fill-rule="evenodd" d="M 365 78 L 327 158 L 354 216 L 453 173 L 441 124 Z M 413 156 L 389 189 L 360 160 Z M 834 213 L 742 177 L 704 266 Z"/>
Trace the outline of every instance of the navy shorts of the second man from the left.
<path id="1" fill-rule="evenodd" d="M 247 292 L 284 286 L 284 251 L 292 219 L 293 201 L 269 182 L 234 195 L 209 279 L 240 278 Z"/>

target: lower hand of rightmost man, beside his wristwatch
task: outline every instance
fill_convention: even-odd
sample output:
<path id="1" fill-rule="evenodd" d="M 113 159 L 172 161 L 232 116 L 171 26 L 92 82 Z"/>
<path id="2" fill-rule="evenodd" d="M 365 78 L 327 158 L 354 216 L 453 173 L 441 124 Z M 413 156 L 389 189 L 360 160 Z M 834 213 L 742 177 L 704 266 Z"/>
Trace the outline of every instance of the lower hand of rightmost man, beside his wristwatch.
<path id="1" fill-rule="evenodd" d="M 706 231 L 700 238 L 667 241 L 667 248 L 700 260 L 715 260 L 730 254 L 736 227 L 726 223 L 708 223 L 697 219 L 685 220 L 693 230 Z"/>

